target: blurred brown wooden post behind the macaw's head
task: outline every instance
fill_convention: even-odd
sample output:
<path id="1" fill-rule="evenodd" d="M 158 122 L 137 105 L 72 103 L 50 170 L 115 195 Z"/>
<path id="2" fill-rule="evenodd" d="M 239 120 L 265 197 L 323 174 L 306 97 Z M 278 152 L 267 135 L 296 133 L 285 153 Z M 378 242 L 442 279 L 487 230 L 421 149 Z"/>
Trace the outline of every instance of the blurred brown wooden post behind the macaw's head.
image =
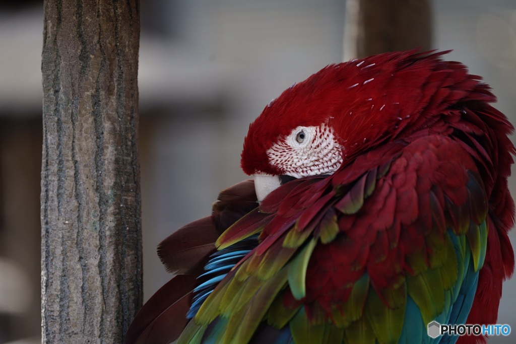
<path id="1" fill-rule="evenodd" d="M 430 0 L 347 0 L 344 61 L 432 45 Z"/>

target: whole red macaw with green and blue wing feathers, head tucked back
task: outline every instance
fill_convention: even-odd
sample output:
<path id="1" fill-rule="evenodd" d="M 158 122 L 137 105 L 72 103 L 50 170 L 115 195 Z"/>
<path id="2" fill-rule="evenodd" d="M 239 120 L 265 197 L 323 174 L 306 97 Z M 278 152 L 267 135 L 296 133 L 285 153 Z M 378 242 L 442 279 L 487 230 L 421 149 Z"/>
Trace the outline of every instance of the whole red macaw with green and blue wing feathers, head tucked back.
<path id="1" fill-rule="evenodd" d="M 496 322 L 513 127 L 445 53 L 328 65 L 265 107 L 241 155 L 254 182 L 159 245 L 178 275 L 125 342 L 485 342 L 427 324 Z"/>

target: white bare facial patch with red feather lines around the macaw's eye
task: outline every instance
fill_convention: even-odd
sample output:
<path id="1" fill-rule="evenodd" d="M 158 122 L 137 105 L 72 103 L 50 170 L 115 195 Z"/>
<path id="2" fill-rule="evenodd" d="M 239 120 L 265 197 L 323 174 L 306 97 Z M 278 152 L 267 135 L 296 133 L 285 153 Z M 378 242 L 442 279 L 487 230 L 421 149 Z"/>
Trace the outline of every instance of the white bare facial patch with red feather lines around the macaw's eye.
<path id="1" fill-rule="evenodd" d="M 301 178 L 335 172 L 342 165 L 342 149 L 328 125 L 298 126 L 272 145 L 267 156 L 270 165 Z"/>

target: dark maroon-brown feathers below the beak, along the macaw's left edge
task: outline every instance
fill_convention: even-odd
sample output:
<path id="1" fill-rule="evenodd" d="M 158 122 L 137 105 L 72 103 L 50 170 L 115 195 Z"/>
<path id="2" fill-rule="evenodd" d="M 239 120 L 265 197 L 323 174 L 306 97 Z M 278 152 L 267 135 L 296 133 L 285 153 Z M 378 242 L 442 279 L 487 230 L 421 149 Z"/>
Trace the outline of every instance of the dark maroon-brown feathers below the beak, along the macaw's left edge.
<path id="1" fill-rule="evenodd" d="M 158 245 L 158 255 L 169 272 L 178 273 L 140 309 L 125 335 L 124 344 L 168 343 L 187 323 L 197 277 L 215 241 L 229 226 L 258 206 L 254 182 L 248 179 L 220 192 L 212 216 L 189 223 Z"/>

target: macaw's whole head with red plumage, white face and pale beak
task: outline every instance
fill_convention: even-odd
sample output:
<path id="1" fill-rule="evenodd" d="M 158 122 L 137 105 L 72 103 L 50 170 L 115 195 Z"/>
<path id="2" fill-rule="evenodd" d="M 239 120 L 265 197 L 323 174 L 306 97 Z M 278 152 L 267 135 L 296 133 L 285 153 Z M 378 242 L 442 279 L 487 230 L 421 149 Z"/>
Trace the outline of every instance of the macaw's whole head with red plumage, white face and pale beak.
<path id="1" fill-rule="evenodd" d="M 440 116 L 453 87 L 442 89 L 474 78 L 464 65 L 442 61 L 445 53 L 413 50 L 331 64 L 271 101 L 249 126 L 241 154 L 259 200 L 285 177 L 332 174 Z"/>

